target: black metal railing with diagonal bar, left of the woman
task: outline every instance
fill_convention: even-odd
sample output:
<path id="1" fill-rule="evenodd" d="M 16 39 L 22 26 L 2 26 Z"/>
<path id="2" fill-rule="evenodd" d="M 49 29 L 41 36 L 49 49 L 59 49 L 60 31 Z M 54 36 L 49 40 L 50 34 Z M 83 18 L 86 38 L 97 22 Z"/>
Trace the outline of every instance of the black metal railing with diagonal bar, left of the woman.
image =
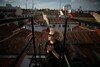
<path id="1" fill-rule="evenodd" d="M 25 51 L 29 46 L 29 43 L 31 41 L 33 41 L 33 48 L 34 48 L 34 60 L 36 61 L 36 48 L 35 48 L 35 38 L 34 38 L 34 20 L 33 17 L 26 17 L 26 18 L 12 18 L 12 19 L 0 19 L 0 24 L 6 24 L 6 23 L 12 23 L 14 21 L 21 21 L 21 20 L 25 20 L 25 19 L 31 19 L 31 25 L 32 25 L 32 38 L 29 40 L 29 42 L 26 44 L 26 46 L 22 49 L 22 51 L 19 53 L 19 55 L 17 56 L 17 58 L 15 59 L 15 61 L 12 63 L 12 65 L 10 67 L 18 67 L 19 63 L 21 60 L 21 58 L 23 58 L 23 56 L 25 55 Z M 17 22 L 16 22 L 17 23 Z"/>

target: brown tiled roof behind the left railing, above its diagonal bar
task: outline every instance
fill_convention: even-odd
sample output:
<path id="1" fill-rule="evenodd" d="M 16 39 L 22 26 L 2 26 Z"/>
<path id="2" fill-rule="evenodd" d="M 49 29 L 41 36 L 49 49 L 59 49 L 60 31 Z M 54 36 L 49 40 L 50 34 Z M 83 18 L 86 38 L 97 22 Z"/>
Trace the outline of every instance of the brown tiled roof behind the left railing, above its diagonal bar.
<path id="1" fill-rule="evenodd" d="M 31 33 L 31 31 L 26 29 L 21 29 L 19 33 L 14 35 L 13 37 L 0 42 L 0 54 L 19 54 L 23 47 L 25 47 L 25 43 L 27 42 L 27 36 Z M 27 39 L 28 40 L 28 39 Z M 2 52 L 3 51 L 3 52 Z"/>

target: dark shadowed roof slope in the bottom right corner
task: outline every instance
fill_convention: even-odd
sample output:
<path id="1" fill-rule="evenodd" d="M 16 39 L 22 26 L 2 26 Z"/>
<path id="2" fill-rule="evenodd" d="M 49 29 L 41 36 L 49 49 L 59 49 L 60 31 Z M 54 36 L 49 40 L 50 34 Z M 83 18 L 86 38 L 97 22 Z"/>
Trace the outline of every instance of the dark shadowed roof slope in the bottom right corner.
<path id="1" fill-rule="evenodd" d="M 76 50 L 81 55 L 81 58 L 84 58 L 85 63 L 90 67 L 92 64 L 99 64 L 98 56 L 96 53 L 99 51 L 100 48 L 96 45 L 75 45 Z"/>

